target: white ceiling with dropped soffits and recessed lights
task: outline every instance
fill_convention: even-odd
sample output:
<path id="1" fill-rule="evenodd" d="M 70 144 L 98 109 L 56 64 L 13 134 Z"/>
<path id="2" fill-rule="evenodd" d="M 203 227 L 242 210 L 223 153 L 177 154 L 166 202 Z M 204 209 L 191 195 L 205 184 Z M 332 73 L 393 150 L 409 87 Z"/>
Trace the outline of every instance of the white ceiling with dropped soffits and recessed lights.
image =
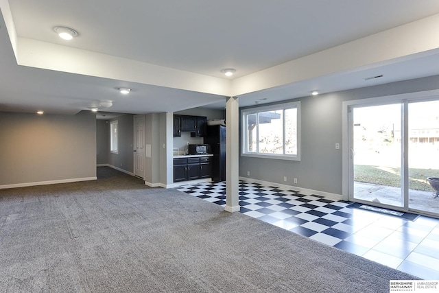
<path id="1" fill-rule="evenodd" d="M 0 110 L 74 114 L 109 99 L 102 111 L 151 113 L 224 107 L 235 93 L 249 106 L 439 74 L 439 45 L 401 40 L 431 23 L 423 19 L 436 21 L 437 0 L 0 0 L 0 8 Z M 55 26 L 79 36 L 61 40 Z M 401 41 L 404 52 L 392 47 Z M 377 51 L 319 57 L 352 44 Z M 285 67 L 292 76 L 279 78 Z M 226 78 L 224 68 L 237 72 Z M 364 80 L 375 75 L 383 78 Z M 132 92 L 122 96 L 121 86 Z"/>

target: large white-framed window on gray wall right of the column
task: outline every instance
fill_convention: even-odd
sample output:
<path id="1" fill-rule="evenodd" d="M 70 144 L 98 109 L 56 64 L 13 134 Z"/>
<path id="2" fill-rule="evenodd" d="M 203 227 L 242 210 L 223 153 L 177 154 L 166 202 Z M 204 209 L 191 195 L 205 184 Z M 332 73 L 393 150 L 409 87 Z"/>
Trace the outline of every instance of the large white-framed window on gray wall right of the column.
<path id="1" fill-rule="evenodd" d="M 243 156 L 300 161 L 300 102 L 241 110 Z"/>

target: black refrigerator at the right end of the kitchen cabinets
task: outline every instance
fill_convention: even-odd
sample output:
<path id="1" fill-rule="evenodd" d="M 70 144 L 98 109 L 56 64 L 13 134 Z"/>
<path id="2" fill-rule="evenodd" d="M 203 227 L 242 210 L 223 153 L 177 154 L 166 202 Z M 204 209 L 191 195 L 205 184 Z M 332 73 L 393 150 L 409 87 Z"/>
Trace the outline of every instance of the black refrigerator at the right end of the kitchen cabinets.
<path id="1" fill-rule="evenodd" d="M 212 180 L 226 181 L 226 126 L 207 126 L 204 143 L 211 145 L 213 154 Z"/>

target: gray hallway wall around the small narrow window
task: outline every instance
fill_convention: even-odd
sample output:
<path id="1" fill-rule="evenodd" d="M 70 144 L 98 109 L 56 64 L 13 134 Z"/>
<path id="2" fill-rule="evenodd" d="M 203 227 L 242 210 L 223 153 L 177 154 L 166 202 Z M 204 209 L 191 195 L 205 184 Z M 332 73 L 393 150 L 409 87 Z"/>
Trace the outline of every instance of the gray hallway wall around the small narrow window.
<path id="1" fill-rule="evenodd" d="M 119 127 L 119 153 L 111 153 L 108 147 L 108 164 L 134 173 L 134 152 L 132 148 L 134 141 L 134 115 L 126 114 L 108 120 L 108 133 L 110 133 L 110 121 L 115 120 L 118 121 Z M 109 134 L 108 145 L 110 145 Z"/>

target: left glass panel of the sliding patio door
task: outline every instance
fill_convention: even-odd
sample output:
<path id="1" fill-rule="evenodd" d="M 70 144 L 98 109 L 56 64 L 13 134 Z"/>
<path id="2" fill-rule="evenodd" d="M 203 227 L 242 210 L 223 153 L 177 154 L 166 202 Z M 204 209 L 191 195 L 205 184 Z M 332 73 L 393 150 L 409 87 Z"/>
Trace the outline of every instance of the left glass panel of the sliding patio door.
<path id="1" fill-rule="evenodd" d="M 353 198 L 403 207 L 401 104 L 353 108 Z"/>

